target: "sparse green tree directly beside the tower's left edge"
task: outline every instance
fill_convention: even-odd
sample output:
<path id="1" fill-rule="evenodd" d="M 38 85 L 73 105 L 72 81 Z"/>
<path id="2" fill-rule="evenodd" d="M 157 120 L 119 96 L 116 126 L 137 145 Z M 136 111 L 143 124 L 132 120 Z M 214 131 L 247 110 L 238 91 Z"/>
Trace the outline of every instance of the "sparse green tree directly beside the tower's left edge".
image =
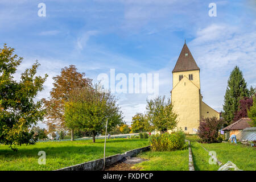
<path id="1" fill-rule="evenodd" d="M 173 130 L 177 126 L 177 114 L 173 110 L 170 98 L 165 101 L 165 96 L 147 100 L 146 117 L 154 129 L 160 133 Z"/>

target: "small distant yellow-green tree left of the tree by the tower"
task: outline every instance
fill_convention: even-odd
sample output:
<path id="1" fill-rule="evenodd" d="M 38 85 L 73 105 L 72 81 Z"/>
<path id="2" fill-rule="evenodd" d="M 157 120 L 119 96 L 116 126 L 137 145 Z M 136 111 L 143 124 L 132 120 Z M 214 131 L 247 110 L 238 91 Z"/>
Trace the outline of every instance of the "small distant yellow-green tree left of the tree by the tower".
<path id="1" fill-rule="evenodd" d="M 144 132 L 150 130 L 150 123 L 142 113 L 135 114 L 131 123 L 131 130 L 134 133 Z"/>

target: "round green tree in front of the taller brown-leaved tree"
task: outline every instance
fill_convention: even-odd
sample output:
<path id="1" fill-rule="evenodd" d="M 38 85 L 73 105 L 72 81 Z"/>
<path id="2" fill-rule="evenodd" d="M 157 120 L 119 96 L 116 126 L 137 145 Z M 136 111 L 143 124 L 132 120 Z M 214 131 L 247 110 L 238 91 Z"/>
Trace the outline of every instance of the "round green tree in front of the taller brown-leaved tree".
<path id="1" fill-rule="evenodd" d="M 69 94 L 65 102 L 65 125 L 96 134 L 102 133 L 108 120 L 108 132 L 122 123 L 122 111 L 117 99 L 110 92 L 102 92 L 98 85 L 77 88 Z"/>

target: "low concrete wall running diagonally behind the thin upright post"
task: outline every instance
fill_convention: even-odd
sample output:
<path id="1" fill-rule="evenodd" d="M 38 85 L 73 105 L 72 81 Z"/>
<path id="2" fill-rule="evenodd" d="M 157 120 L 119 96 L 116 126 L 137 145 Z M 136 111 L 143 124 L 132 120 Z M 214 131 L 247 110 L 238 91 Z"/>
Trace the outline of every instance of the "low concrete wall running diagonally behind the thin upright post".
<path id="1" fill-rule="evenodd" d="M 123 158 L 128 156 L 132 157 L 138 155 L 140 152 L 150 150 L 150 146 L 136 148 L 134 150 L 130 150 L 125 152 L 125 154 L 116 154 L 105 158 L 105 167 L 108 167 L 114 163 L 119 162 Z M 76 164 L 74 166 L 69 166 L 61 169 L 57 169 L 56 171 L 100 171 L 103 168 L 104 159 L 92 160 L 86 163 Z"/>

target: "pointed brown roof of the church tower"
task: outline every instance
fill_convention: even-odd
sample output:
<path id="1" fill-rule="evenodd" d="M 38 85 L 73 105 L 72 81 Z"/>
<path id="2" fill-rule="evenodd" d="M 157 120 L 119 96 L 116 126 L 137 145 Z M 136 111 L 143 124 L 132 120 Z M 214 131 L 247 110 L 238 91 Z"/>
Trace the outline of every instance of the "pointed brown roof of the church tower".
<path id="1" fill-rule="evenodd" d="M 191 71 L 191 70 L 200 70 L 200 68 L 197 66 L 195 59 L 193 58 L 191 52 L 189 51 L 189 48 L 184 43 L 184 46 L 180 52 L 179 59 L 177 60 L 177 63 L 174 67 L 173 72 L 184 72 L 184 71 Z"/>

